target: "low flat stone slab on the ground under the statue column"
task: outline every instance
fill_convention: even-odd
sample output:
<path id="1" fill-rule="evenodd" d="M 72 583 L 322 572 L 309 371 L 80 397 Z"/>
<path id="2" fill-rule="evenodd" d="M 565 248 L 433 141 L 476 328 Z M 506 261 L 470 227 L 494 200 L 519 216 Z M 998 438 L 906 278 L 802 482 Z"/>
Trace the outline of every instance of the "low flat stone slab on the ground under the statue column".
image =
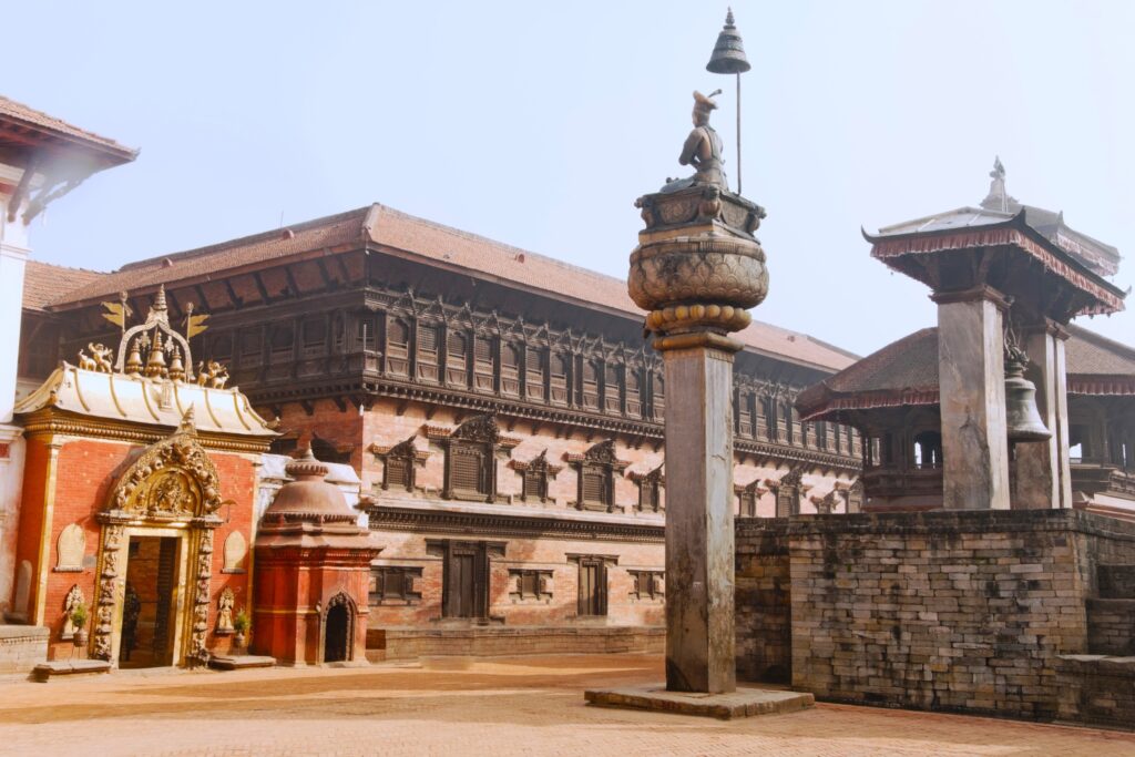
<path id="1" fill-rule="evenodd" d="M 656 713 L 700 715 L 733 720 L 755 715 L 779 715 L 807 709 L 815 704 L 810 693 L 775 689 L 739 688 L 730 693 L 687 693 L 665 687 L 633 687 L 585 691 L 588 704 L 602 707 L 648 709 Z"/>

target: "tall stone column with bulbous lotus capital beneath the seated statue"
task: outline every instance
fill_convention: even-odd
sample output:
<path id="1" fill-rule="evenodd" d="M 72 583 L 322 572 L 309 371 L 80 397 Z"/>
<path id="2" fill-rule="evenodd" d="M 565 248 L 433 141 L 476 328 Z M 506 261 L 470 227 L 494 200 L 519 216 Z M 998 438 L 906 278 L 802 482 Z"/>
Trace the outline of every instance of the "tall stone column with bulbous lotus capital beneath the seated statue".
<path id="1" fill-rule="evenodd" d="M 764 211 L 713 185 L 649 194 L 630 293 L 666 371 L 666 689 L 737 688 L 731 331 L 768 291 Z"/>

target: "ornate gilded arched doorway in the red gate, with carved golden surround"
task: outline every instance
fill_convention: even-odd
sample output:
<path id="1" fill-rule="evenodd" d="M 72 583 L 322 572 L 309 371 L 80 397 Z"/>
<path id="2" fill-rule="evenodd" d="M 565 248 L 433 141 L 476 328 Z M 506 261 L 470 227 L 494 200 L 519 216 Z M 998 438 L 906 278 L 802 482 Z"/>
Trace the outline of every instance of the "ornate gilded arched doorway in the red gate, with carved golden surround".
<path id="1" fill-rule="evenodd" d="M 91 613 L 92 657 L 114 665 L 208 662 L 213 531 L 221 524 L 217 515 L 221 504 L 217 469 L 197 444 L 192 415 L 170 437 L 143 451 L 118 478 L 95 515 L 102 530 Z M 153 565 L 145 566 L 146 562 Z M 152 586 L 143 587 L 142 581 Z M 138 607 L 140 595 L 143 604 L 146 598 L 153 603 L 152 617 L 145 622 L 140 617 L 146 612 Z M 140 636 L 149 654 L 131 659 L 141 646 Z"/>

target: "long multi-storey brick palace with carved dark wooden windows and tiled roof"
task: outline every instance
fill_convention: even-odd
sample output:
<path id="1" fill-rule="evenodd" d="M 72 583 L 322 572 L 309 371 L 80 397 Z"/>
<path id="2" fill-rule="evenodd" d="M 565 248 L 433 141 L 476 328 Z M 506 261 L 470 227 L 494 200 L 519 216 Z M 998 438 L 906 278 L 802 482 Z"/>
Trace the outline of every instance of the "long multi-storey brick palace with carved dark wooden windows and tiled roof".
<path id="1" fill-rule="evenodd" d="M 278 452 L 359 471 L 372 628 L 661 622 L 666 393 L 624 281 L 371 205 L 112 274 L 33 263 L 22 379 L 159 285 L 171 321 L 210 314 L 193 348 L 280 419 Z M 858 437 L 792 406 L 854 356 L 741 338 L 739 513 L 854 508 Z"/>

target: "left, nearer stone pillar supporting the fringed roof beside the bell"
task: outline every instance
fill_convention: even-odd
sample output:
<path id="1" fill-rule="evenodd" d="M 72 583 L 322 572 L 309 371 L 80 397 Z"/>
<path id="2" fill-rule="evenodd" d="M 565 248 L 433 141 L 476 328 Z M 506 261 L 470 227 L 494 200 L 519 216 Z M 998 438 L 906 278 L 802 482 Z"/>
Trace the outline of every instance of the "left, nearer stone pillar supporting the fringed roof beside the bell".
<path id="1" fill-rule="evenodd" d="M 1008 303 L 987 286 L 936 293 L 932 300 L 938 303 L 943 506 L 1008 510 L 1003 330 Z"/>

